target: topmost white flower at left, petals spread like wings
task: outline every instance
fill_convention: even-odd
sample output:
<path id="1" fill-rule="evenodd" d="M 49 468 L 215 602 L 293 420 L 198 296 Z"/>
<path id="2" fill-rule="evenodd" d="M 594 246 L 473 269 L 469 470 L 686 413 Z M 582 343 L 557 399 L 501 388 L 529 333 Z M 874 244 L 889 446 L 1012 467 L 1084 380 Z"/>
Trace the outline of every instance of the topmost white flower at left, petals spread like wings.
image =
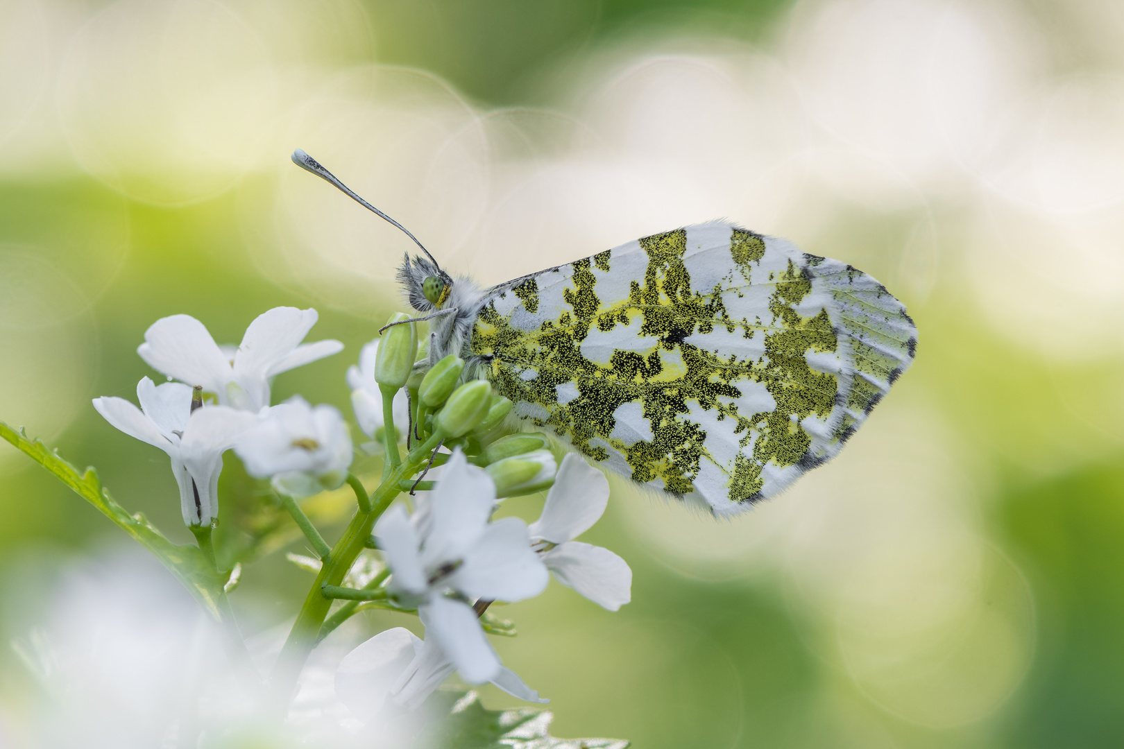
<path id="1" fill-rule="evenodd" d="M 277 307 L 246 328 L 234 357 L 223 353 L 203 323 L 189 314 L 156 320 L 137 354 L 157 372 L 202 385 L 223 405 L 260 411 L 270 404 L 270 378 L 343 350 L 338 340 L 301 344 L 316 325 L 316 310 Z"/>

